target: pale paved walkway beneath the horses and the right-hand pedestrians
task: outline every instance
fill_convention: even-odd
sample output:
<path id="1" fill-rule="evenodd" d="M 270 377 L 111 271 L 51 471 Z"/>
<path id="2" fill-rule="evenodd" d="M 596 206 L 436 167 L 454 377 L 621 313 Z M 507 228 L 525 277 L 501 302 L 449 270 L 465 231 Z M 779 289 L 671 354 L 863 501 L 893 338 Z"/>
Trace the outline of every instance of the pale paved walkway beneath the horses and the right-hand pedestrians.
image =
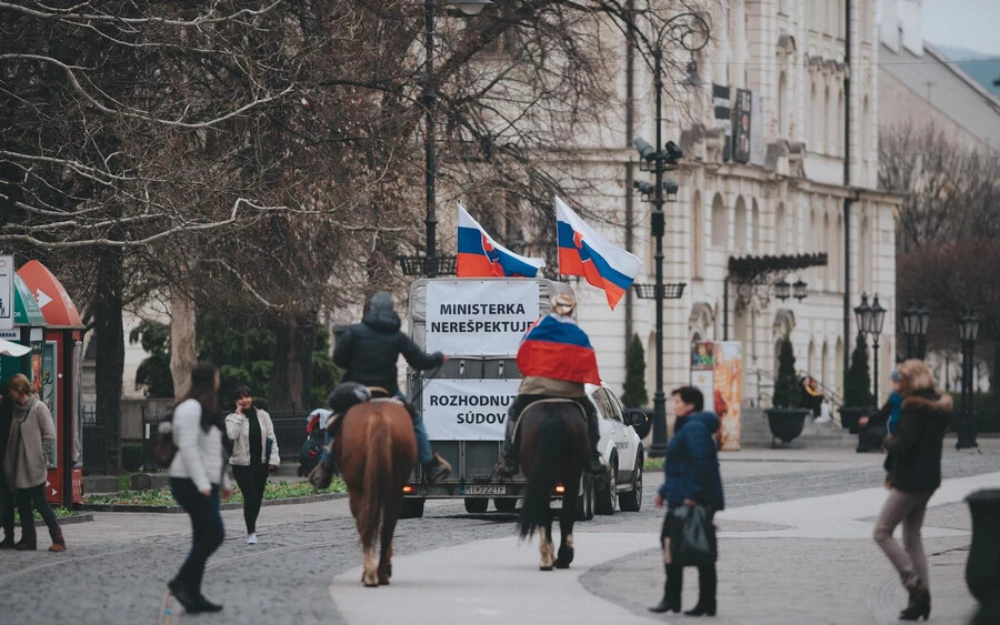
<path id="1" fill-rule="evenodd" d="M 932 622 L 964 623 L 976 607 L 963 576 L 969 544 L 961 500 L 996 486 L 1000 473 L 949 480 L 931 500 L 924 543 L 931 561 Z M 871 541 L 883 488 L 727 510 L 720 525 L 719 624 L 891 623 L 906 604 L 894 571 Z M 479 541 L 393 561 L 392 586 L 361 587 L 360 568 L 329 592 L 347 623 L 396 622 L 420 605 L 436 623 L 684 622 L 647 612 L 663 569 L 656 520 L 621 516 L 577 526 L 569 571 L 539 572 L 537 538 Z M 448 593 L 432 591 L 448 588 Z M 588 592 L 589 591 L 589 592 Z M 688 574 L 684 605 L 697 601 Z"/>

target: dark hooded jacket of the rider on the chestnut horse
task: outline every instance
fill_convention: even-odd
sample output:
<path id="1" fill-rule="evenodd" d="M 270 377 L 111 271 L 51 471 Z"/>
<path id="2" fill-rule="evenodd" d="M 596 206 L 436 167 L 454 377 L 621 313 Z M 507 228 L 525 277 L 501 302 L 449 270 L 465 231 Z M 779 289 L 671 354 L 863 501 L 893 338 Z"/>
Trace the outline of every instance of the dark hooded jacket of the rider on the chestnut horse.
<path id="1" fill-rule="evenodd" d="M 346 370 L 342 381 L 381 386 L 396 394 L 399 392 L 396 362 L 400 354 L 413 369 L 441 366 L 444 362 L 441 353 L 424 354 L 417 343 L 399 331 L 400 325 L 392 296 L 376 293 L 361 323 L 350 326 L 333 349 L 333 362 Z"/>

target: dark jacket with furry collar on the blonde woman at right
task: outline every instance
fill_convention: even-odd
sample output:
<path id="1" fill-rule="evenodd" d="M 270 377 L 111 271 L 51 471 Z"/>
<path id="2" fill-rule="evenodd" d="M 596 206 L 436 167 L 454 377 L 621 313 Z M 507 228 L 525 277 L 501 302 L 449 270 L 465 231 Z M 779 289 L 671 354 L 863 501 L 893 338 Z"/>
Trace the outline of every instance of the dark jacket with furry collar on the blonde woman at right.
<path id="1" fill-rule="evenodd" d="M 923 492 L 941 485 L 941 443 L 950 413 L 950 395 L 926 390 L 903 397 L 899 432 L 883 443 L 893 488 Z"/>

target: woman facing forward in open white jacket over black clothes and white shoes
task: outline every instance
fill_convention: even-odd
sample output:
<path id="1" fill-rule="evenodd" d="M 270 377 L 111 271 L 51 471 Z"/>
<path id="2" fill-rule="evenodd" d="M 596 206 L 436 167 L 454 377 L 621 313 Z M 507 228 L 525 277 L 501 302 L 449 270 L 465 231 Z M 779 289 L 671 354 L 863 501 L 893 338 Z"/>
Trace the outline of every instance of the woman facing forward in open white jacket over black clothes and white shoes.
<path id="1" fill-rule="evenodd" d="M 274 424 L 267 411 L 253 405 L 247 386 L 233 391 L 236 412 L 226 417 L 226 433 L 232 438 L 232 476 L 243 493 L 243 521 L 247 523 L 247 544 L 256 545 L 257 516 L 268 485 L 268 472 L 278 468 L 278 441 Z"/>

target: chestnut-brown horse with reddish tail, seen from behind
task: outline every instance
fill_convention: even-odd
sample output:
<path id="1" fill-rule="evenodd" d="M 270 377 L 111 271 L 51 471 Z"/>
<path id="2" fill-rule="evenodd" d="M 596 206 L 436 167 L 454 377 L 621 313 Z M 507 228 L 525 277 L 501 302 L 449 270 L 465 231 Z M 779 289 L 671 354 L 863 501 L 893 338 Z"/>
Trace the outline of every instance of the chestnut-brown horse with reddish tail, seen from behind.
<path id="1" fill-rule="evenodd" d="M 350 493 L 351 514 L 364 550 L 366 586 L 389 584 L 392 535 L 402 506 L 402 488 L 417 464 L 417 436 L 407 409 L 397 400 L 371 400 L 341 417 L 333 457 Z M 379 538 L 381 555 L 374 564 Z"/>

